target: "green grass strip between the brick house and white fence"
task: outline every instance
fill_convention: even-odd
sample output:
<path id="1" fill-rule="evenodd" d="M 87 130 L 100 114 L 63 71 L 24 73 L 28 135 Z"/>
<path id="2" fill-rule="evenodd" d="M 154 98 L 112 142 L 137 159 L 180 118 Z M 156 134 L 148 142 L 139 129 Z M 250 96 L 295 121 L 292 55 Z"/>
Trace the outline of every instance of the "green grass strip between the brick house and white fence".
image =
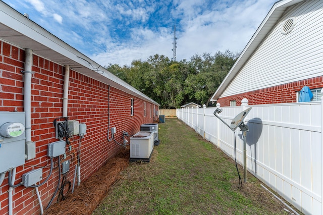
<path id="1" fill-rule="evenodd" d="M 182 122 L 158 126 L 151 162 L 131 163 L 93 214 L 289 214 L 251 174 L 238 188 L 234 161 Z"/>

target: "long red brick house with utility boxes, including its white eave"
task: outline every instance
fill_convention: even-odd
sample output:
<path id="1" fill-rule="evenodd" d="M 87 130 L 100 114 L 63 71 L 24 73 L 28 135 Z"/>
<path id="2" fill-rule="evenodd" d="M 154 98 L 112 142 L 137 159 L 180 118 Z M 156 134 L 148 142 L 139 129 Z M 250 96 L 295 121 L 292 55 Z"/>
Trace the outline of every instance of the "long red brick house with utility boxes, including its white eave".
<path id="1" fill-rule="evenodd" d="M 60 174 L 50 160 L 68 154 L 66 139 L 82 182 L 122 148 L 124 131 L 157 119 L 159 104 L 3 2 L 0 17 L 0 214 L 40 214 L 34 184 L 45 181 L 47 205 Z M 73 181 L 77 167 L 64 160 Z"/>

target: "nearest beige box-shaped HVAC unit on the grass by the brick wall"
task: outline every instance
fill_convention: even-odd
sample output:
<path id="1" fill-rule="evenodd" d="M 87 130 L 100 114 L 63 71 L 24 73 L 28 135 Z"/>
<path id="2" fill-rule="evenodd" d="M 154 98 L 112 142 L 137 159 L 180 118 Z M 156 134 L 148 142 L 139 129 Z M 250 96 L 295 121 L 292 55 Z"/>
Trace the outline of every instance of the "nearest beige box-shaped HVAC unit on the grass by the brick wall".
<path id="1" fill-rule="evenodd" d="M 130 137 L 130 161 L 150 161 L 153 150 L 153 132 L 140 131 Z"/>

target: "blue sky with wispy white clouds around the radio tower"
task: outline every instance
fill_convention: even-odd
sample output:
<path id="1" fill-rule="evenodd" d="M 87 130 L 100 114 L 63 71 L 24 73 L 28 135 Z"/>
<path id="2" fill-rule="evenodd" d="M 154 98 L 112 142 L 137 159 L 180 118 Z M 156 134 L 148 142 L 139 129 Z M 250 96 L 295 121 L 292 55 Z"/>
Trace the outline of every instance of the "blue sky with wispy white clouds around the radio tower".
<path id="1" fill-rule="evenodd" d="M 243 50 L 276 0 L 3 0 L 101 66 Z"/>

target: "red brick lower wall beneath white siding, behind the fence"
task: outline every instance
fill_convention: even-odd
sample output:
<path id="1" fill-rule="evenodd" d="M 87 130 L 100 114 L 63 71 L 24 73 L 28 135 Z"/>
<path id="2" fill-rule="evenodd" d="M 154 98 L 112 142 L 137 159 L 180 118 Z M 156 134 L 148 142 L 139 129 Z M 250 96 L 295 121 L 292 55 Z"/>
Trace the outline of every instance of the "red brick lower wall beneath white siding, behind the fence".
<path id="1" fill-rule="evenodd" d="M 221 106 L 230 106 L 231 100 L 236 100 L 236 105 L 241 105 L 243 98 L 248 99 L 249 105 L 296 102 L 296 92 L 305 85 L 310 89 L 322 88 L 323 76 L 227 96 L 219 98 L 217 102 Z"/>

